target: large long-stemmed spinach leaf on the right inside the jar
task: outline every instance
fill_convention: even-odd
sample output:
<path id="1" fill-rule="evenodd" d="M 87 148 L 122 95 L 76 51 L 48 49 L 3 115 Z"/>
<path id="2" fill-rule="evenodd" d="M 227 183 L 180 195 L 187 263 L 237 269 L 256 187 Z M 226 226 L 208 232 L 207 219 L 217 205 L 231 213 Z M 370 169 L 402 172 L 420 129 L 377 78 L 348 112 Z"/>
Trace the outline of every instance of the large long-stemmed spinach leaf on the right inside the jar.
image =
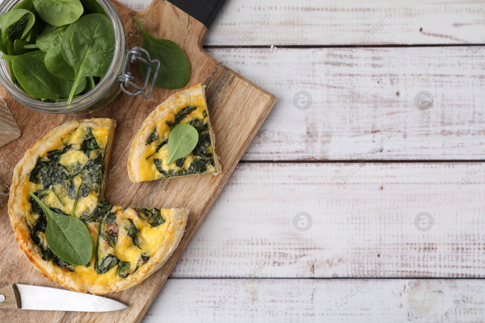
<path id="1" fill-rule="evenodd" d="M 106 74 L 113 60 L 113 25 L 105 15 L 84 15 L 67 27 L 62 38 L 62 55 L 76 73 L 67 99 L 67 104 L 71 104 L 82 79 Z"/>

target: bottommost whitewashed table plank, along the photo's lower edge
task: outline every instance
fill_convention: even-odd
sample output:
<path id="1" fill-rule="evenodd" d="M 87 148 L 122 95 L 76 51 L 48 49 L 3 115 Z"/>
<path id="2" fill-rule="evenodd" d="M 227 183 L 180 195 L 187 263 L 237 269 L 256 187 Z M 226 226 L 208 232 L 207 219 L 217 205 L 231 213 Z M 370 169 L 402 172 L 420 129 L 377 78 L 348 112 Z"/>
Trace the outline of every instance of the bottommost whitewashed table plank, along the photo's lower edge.
<path id="1" fill-rule="evenodd" d="M 168 279 L 143 323 L 478 323 L 484 289 L 474 279 Z"/>

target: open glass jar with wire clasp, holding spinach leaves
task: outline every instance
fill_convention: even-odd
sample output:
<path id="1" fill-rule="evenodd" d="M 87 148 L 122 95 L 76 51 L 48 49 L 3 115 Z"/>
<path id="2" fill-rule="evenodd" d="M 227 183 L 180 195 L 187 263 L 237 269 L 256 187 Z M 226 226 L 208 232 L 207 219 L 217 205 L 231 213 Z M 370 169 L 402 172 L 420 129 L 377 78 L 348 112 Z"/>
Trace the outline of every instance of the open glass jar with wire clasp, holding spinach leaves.
<path id="1" fill-rule="evenodd" d="M 127 50 L 125 28 L 120 15 L 109 0 L 97 1 L 104 8 L 106 14 L 113 23 L 114 30 L 114 47 L 113 50 L 111 50 L 113 52 L 113 61 L 111 62 L 106 75 L 99 81 L 94 89 L 73 99 L 70 105 L 67 105 L 66 102 L 41 102 L 33 98 L 32 95 L 21 90 L 16 84 L 12 83 L 7 61 L 0 59 L 0 83 L 14 99 L 24 106 L 41 112 L 79 115 L 91 113 L 103 108 L 113 101 L 120 91 L 129 95 L 142 94 L 144 98 L 150 97 L 155 82 L 151 82 L 149 92 L 148 94 L 145 94 L 148 79 L 145 80 L 143 88 L 131 82 L 134 77 L 128 72 L 128 63 L 129 61 L 134 62 L 137 59 L 146 63 L 149 67 L 147 75 L 150 75 L 152 64 L 156 64 L 157 68 L 153 73 L 153 79 L 155 79 L 158 74 L 158 69 L 160 68 L 160 62 L 158 60 L 150 60 L 148 53 L 143 48 L 133 47 L 131 50 Z M 17 2 L 20 2 L 20 0 L 4 0 L 0 4 L 0 15 L 8 12 Z M 145 53 L 146 59 L 142 58 L 140 51 Z M 129 92 L 126 89 L 129 86 L 136 88 L 138 91 Z"/>

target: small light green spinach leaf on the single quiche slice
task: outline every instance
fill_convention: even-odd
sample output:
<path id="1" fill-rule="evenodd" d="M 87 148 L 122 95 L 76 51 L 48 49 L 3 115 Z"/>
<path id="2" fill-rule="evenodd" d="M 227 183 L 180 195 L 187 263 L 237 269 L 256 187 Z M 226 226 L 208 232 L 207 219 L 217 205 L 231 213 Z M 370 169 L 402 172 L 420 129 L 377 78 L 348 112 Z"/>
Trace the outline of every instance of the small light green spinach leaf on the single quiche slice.
<path id="1" fill-rule="evenodd" d="M 168 156 L 165 165 L 170 165 L 177 159 L 188 156 L 194 150 L 199 140 L 197 129 L 187 123 L 175 126 L 168 137 Z"/>

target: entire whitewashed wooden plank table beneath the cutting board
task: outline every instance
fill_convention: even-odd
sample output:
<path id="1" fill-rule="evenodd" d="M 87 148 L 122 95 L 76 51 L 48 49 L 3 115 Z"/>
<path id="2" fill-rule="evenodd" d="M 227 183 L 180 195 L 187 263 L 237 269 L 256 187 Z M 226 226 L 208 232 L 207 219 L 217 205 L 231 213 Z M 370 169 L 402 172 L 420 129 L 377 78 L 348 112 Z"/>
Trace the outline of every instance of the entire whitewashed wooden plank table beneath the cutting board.
<path id="1" fill-rule="evenodd" d="M 401 1 L 227 1 L 278 101 L 144 323 L 485 321 L 484 2 Z"/>

